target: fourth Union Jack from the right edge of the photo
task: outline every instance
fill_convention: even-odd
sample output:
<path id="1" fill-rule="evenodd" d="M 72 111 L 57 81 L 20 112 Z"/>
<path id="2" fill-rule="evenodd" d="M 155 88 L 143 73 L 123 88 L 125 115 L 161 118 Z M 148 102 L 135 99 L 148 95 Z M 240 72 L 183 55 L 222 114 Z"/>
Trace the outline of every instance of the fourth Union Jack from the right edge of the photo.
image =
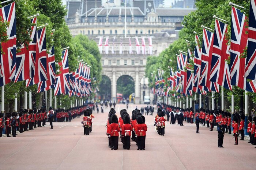
<path id="1" fill-rule="evenodd" d="M 219 92 L 219 85 L 215 82 L 210 81 L 213 36 L 214 33 L 203 29 L 200 85 L 204 86 L 205 91 Z"/>

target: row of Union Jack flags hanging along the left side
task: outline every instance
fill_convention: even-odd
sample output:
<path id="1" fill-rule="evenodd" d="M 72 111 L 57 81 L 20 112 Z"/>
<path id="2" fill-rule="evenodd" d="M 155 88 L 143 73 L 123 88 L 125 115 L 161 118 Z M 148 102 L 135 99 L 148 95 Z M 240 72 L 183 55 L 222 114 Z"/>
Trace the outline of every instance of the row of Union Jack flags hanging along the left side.
<path id="1" fill-rule="evenodd" d="M 54 88 L 54 95 L 68 94 L 83 97 L 90 95 L 90 67 L 80 63 L 76 72 L 69 72 L 68 49 L 62 52 L 59 62 L 60 74 L 56 75 L 54 46 L 46 50 L 46 28 L 37 30 L 37 17 L 31 19 L 30 42 L 18 44 L 20 52 L 16 54 L 16 18 L 15 2 L 0 8 L 3 21 L 10 24 L 7 28 L 7 42 L 1 42 L 0 86 L 13 82 L 26 81 L 26 87 L 37 84 L 37 92 Z M 53 36 L 53 32 L 52 32 Z"/>

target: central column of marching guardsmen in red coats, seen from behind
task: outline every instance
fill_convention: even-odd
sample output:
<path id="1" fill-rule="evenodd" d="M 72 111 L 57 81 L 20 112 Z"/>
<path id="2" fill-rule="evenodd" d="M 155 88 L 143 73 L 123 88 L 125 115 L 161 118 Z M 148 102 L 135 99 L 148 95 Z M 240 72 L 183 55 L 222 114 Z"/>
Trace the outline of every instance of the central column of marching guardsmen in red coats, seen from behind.
<path id="1" fill-rule="evenodd" d="M 118 149 L 119 132 L 123 149 L 130 149 L 132 139 L 138 146 L 137 150 L 145 150 L 147 125 L 145 124 L 145 117 L 141 114 L 140 110 L 133 110 L 130 118 L 127 110 L 123 109 L 120 111 L 118 119 L 116 110 L 111 108 L 106 128 L 109 147 L 112 150 Z"/>

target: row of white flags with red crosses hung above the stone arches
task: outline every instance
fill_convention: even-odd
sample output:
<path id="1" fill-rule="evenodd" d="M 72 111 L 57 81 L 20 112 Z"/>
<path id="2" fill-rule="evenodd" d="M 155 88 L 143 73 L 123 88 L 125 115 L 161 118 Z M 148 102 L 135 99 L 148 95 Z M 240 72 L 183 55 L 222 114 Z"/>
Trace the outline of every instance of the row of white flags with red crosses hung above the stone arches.
<path id="1" fill-rule="evenodd" d="M 116 37 L 113 37 L 112 41 L 112 48 L 111 48 L 111 54 L 116 54 L 114 51 L 114 41 Z M 141 37 L 142 39 L 142 45 L 140 46 L 138 37 L 135 37 L 135 48 L 136 48 L 136 54 L 142 54 L 142 55 L 152 55 L 153 54 L 153 48 L 152 48 L 152 37 L 148 37 L 148 49 L 146 50 L 146 41 L 145 37 Z M 103 37 L 99 37 L 99 52 L 102 54 L 102 48 L 103 48 Z M 105 44 L 104 44 L 104 51 L 105 54 L 109 54 L 109 37 L 106 37 Z M 119 46 L 119 54 L 123 54 L 123 37 L 121 37 L 121 42 Z M 129 37 L 129 54 L 133 54 L 133 47 L 131 43 L 131 37 Z"/>

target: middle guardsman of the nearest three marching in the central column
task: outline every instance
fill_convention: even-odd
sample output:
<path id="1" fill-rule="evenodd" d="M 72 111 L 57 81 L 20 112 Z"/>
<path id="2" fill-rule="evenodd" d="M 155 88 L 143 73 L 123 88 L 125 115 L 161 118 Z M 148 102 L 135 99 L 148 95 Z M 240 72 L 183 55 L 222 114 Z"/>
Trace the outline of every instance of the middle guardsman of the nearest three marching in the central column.
<path id="1" fill-rule="evenodd" d="M 131 146 L 131 132 L 132 132 L 132 125 L 130 116 L 128 114 L 124 115 L 124 124 L 122 126 L 122 136 L 123 136 L 123 145 L 124 149 L 130 149 Z"/>

